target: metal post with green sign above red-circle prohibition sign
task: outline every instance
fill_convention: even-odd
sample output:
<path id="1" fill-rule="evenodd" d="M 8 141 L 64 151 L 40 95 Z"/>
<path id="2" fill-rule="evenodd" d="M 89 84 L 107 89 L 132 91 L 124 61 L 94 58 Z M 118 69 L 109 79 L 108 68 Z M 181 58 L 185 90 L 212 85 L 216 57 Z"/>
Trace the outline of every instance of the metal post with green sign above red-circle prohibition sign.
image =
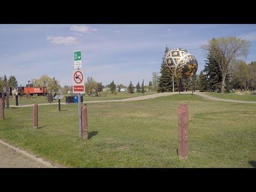
<path id="1" fill-rule="evenodd" d="M 81 115 L 81 93 L 84 93 L 84 72 L 82 68 L 82 53 L 74 51 L 74 69 L 73 70 L 73 93 L 78 93 L 78 124 L 79 137 L 82 138 L 82 115 Z"/>

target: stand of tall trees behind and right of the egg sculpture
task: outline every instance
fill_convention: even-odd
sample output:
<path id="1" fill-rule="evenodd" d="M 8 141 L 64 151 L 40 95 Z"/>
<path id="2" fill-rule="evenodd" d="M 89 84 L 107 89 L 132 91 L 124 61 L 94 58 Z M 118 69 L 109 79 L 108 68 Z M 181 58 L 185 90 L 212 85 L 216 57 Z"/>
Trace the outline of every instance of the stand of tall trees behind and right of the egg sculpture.
<path id="1" fill-rule="evenodd" d="M 212 38 L 208 44 L 202 45 L 206 60 L 204 69 L 190 79 L 182 79 L 184 90 L 230 92 L 231 90 L 255 90 L 256 87 L 256 61 L 245 63 L 251 43 L 235 36 Z M 165 54 L 169 52 L 166 46 Z M 178 91 L 179 79 L 170 75 L 164 65 L 164 57 L 161 63 L 160 75 L 152 74 L 155 91 L 171 92 Z M 173 82 L 174 79 L 174 82 Z"/>

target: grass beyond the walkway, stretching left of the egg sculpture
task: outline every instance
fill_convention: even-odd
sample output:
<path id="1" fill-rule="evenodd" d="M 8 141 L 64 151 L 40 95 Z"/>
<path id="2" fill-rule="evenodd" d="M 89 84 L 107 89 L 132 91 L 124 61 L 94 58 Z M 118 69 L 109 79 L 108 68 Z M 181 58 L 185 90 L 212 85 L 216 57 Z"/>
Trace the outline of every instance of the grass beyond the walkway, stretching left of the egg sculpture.
<path id="1" fill-rule="evenodd" d="M 149 94 L 155 94 L 156 92 L 147 92 L 144 93 L 144 95 Z M 67 95 L 71 96 L 71 95 Z M 119 100 L 119 99 L 126 99 L 126 98 L 132 98 L 132 97 L 140 97 L 143 96 L 143 93 L 127 93 L 127 92 L 118 92 L 116 95 L 114 94 L 107 94 L 106 97 L 89 97 L 87 94 L 84 95 L 83 101 L 102 101 L 102 100 Z M 66 98 L 60 100 L 61 102 L 66 102 Z M 48 100 L 46 96 L 37 96 L 37 97 L 30 97 L 27 99 L 25 96 L 22 97 L 20 100 L 18 100 L 18 105 L 27 105 L 27 104 L 33 104 L 33 103 L 48 103 Z M 58 102 L 57 100 L 54 100 L 53 102 Z M 12 98 L 12 100 L 9 101 L 10 105 L 16 105 L 15 99 Z"/>

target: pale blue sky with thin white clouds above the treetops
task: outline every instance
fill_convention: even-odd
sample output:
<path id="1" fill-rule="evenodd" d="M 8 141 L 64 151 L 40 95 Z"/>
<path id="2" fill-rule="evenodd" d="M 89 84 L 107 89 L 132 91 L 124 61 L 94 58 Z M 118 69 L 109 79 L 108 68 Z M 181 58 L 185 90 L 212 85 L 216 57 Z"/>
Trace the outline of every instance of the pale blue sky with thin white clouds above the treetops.
<path id="1" fill-rule="evenodd" d="M 164 49 L 182 48 L 195 55 L 197 74 L 204 68 L 200 48 L 213 37 L 237 36 L 251 41 L 246 63 L 256 61 L 256 25 L 227 24 L 90 24 L 0 25 L 0 77 L 15 76 L 24 86 L 41 75 L 61 86 L 73 85 L 73 54 L 82 51 L 85 79 L 135 86 L 159 72 Z"/>

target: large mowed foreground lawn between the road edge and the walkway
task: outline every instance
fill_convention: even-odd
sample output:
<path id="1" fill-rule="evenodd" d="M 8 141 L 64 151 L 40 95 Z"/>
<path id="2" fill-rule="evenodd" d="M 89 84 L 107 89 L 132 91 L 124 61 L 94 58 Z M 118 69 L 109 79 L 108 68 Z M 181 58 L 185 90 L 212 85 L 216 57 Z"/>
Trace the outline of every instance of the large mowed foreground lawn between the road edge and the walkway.
<path id="1" fill-rule="evenodd" d="M 189 155 L 180 159 L 178 107 L 188 104 Z M 5 109 L 0 139 L 67 167 L 253 167 L 256 105 L 191 94 L 87 103 L 89 139 L 79 138 L 77 104 Z"/>

